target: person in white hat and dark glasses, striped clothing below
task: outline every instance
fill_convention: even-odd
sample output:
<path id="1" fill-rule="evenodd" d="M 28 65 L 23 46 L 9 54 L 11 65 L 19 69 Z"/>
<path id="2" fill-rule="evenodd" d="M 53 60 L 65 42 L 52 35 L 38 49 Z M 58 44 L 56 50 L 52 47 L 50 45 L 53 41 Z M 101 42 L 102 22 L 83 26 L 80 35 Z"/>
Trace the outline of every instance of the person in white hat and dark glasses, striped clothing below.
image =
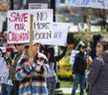
<path id="1" fill-rule="evenodd" d="M 48 95 L 46 61 L 47 57 L 40 52 L 33 59 L 32 95 Z"/>

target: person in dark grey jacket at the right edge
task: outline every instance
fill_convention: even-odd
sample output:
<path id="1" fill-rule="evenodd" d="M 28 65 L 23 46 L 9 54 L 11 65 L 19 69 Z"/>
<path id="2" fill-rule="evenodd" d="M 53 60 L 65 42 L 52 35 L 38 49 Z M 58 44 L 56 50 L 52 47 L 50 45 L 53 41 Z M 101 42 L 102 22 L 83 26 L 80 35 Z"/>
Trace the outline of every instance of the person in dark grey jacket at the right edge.
<path id="1" fill-rule="evenodd" d="M 88 76 L 89 95 L 108 95 L 108 48 L 105 51 L 103 42 L 96 45 L 96 57 Z"/>

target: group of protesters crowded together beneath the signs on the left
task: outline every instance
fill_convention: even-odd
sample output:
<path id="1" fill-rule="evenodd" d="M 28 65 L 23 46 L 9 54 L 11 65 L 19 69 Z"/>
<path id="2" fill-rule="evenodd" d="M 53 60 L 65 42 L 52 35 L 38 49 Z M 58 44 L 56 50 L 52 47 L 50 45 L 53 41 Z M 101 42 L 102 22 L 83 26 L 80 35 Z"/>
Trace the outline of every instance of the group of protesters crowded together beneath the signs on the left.
<path id="1" fill-rule="evenodd" d="M 34 45 L 33 56 L 29 46 L 15 45 L 17 51 L 0 51 L 1 95 L 54 95 L 58 81 L 56 62 L 66 52 L 55 56 L 52 47 Z"/>

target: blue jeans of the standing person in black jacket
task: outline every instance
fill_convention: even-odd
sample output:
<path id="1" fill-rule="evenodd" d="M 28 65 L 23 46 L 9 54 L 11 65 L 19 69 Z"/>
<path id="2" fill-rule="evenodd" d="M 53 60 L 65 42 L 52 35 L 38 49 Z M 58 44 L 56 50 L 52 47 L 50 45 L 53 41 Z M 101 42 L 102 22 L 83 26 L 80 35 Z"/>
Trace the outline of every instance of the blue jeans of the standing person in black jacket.
<path id="1" fill-rule="evenodd" d="M 78 84 L 80 84 L 80 95 L 84 95 L 85 74 L 75 74 L 75 77 L 73 79 L 72 95 L 76 94 L 76 90 L 78 88 Z"/>

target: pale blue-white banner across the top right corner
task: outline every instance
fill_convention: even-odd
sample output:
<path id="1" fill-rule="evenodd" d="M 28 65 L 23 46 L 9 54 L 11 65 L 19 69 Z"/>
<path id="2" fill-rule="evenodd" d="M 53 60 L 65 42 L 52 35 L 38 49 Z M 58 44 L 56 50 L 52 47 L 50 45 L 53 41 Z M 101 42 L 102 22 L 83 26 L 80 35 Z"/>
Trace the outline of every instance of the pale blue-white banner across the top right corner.
<path id="1" fill-rule="evenodd" d="M 108 9 L 108 0 L 68 0 L 67 3 L 73 7 Z"/>

